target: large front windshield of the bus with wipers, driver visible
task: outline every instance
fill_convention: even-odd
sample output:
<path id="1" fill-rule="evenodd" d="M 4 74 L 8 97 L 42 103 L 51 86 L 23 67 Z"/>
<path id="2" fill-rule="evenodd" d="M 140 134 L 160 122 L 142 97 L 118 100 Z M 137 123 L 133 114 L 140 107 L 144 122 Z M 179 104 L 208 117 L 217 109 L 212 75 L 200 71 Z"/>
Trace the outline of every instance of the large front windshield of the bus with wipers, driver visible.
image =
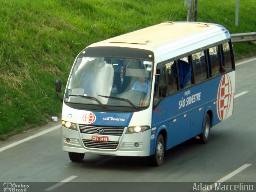
<path id="1" fill-rule="evenodd" d="M 65 102 L 106 106 L 148 106 L 152 62 L 81 57 L 74 64 Z"/>

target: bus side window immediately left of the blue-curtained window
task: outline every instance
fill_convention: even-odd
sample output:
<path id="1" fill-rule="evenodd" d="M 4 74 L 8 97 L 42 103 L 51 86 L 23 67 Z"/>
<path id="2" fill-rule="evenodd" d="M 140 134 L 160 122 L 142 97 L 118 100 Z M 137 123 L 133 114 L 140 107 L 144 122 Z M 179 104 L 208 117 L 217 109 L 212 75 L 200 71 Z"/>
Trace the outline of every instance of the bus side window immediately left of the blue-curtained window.
<path id="1" fill-rule="evenodd" d="M 174 61 L 165 64 L 168 79 L 169 94 L 173 94 L 178 90 L 177 86 L 177 70 Z"/>

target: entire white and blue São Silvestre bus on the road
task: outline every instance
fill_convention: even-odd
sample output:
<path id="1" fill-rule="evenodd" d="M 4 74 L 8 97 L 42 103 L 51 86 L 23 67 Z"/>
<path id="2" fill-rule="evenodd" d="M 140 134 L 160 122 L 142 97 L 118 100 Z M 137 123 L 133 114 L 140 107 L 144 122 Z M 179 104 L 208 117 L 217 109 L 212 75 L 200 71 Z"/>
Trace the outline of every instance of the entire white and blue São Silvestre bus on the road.
<path id="1" fill-rule="evenodd" d="M 173 146 L 208 142 L 210 128 L 233 114 L 234 88 L 230 34 L 218 24 L 163 22 L 94 43 L 68 78 L 62 150 L 74 162 L 149 156 L 160 166 Z"/>

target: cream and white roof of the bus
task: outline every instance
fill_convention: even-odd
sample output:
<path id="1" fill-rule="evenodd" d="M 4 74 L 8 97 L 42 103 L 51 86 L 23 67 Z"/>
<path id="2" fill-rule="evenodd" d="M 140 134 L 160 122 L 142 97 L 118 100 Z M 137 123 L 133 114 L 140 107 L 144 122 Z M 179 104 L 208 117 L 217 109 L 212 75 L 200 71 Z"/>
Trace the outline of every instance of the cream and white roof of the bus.
<path id="1" fill-rule="evenodd" d="M 228 30 L 218 24 L 162 22 L 88 47 L 116 46 L 150 50 L 160 62 L 229 38 Z"/>

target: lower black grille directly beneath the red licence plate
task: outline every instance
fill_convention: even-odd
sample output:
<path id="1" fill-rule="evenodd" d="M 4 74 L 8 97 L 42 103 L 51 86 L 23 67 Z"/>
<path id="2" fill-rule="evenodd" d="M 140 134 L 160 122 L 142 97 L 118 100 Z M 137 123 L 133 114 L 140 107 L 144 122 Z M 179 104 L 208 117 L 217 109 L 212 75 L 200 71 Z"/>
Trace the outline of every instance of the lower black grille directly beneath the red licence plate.
<path id="1" fill-rule="evenodd" d="M 108 141 L 108 142 L 95 142 L 92 140 L 83 140 L 84 146 L 86 148 L 97 148 L 97 149 L 116 149 L 118 146 L 118 141 Z"/>

